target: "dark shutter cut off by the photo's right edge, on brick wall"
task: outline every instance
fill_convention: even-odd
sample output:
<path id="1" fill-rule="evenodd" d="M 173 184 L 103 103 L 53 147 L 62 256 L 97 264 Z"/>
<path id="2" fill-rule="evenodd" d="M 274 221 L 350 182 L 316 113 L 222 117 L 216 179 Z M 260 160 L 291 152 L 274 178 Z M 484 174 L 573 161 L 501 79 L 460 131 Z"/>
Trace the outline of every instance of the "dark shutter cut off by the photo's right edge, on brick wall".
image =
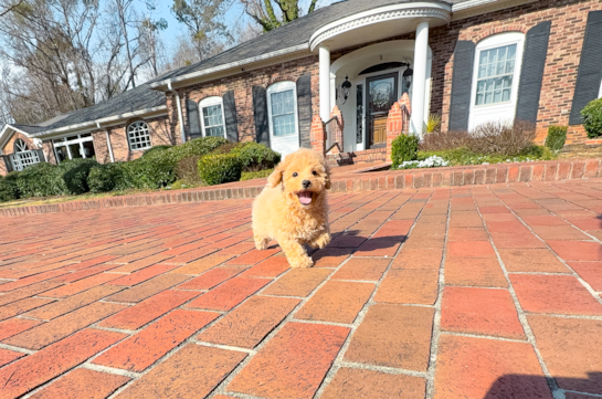
<path id="1" fill-rule="evenodd" d="M 581 124 L 581 109 L 598 98 L 602 78 L 602 11 L 588 14 L 569 125 Z"/>

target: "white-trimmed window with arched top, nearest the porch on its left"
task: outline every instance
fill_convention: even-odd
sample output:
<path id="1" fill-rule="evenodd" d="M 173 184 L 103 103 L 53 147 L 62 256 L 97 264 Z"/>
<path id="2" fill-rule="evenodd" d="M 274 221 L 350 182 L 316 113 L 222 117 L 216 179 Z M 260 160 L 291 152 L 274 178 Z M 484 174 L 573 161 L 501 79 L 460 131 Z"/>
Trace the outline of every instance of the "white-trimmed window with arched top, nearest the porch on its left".
<path id="1" fill-rule="evenodd" d="M 267 88 L 270 129 L 273 137 L 298 134 L 296 92 L 294 82 L 278 82 Z"/>

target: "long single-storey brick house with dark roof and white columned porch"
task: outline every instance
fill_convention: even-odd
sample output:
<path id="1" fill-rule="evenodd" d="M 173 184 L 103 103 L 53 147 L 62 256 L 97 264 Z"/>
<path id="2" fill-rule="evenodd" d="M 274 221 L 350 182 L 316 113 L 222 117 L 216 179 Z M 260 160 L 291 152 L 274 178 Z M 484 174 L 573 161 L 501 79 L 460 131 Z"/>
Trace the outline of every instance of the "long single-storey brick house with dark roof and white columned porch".
<path id="1" fill-rule="evenodd" d="M 580 111 L 602 96 L 600 43 L 602 0 L 347 0 L 93 107 L 7 125 L 0 174 L 202 136 L 384 160 L 430 114 L 444 130 L 529 120 L 540 143 L 568 125 L 580 144 Z"/>

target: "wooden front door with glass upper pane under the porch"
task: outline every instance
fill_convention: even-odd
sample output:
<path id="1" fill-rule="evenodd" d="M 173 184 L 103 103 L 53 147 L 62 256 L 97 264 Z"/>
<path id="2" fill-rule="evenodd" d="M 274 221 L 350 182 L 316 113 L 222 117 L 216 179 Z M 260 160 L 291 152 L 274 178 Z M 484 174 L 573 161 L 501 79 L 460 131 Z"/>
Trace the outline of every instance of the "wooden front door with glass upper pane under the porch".
<path id="1" fill-rule="evenodd" d="M 367 149 L 387 146 L 387 117 L 398 101 L 398 80 L 397 72 L 366 80 Z"/>

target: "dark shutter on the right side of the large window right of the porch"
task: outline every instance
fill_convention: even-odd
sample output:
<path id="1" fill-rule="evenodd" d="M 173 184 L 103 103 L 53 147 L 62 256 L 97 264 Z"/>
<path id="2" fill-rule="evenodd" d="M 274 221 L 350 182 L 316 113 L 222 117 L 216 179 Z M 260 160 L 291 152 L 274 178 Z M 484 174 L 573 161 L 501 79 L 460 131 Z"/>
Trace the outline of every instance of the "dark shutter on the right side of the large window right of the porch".
<path id="1" fill-rule="evenodd" d="M 551 25 L 551 21 L 541 22 L 527 32 L 516 103 L 517 119 L 537 123 Z"/>

